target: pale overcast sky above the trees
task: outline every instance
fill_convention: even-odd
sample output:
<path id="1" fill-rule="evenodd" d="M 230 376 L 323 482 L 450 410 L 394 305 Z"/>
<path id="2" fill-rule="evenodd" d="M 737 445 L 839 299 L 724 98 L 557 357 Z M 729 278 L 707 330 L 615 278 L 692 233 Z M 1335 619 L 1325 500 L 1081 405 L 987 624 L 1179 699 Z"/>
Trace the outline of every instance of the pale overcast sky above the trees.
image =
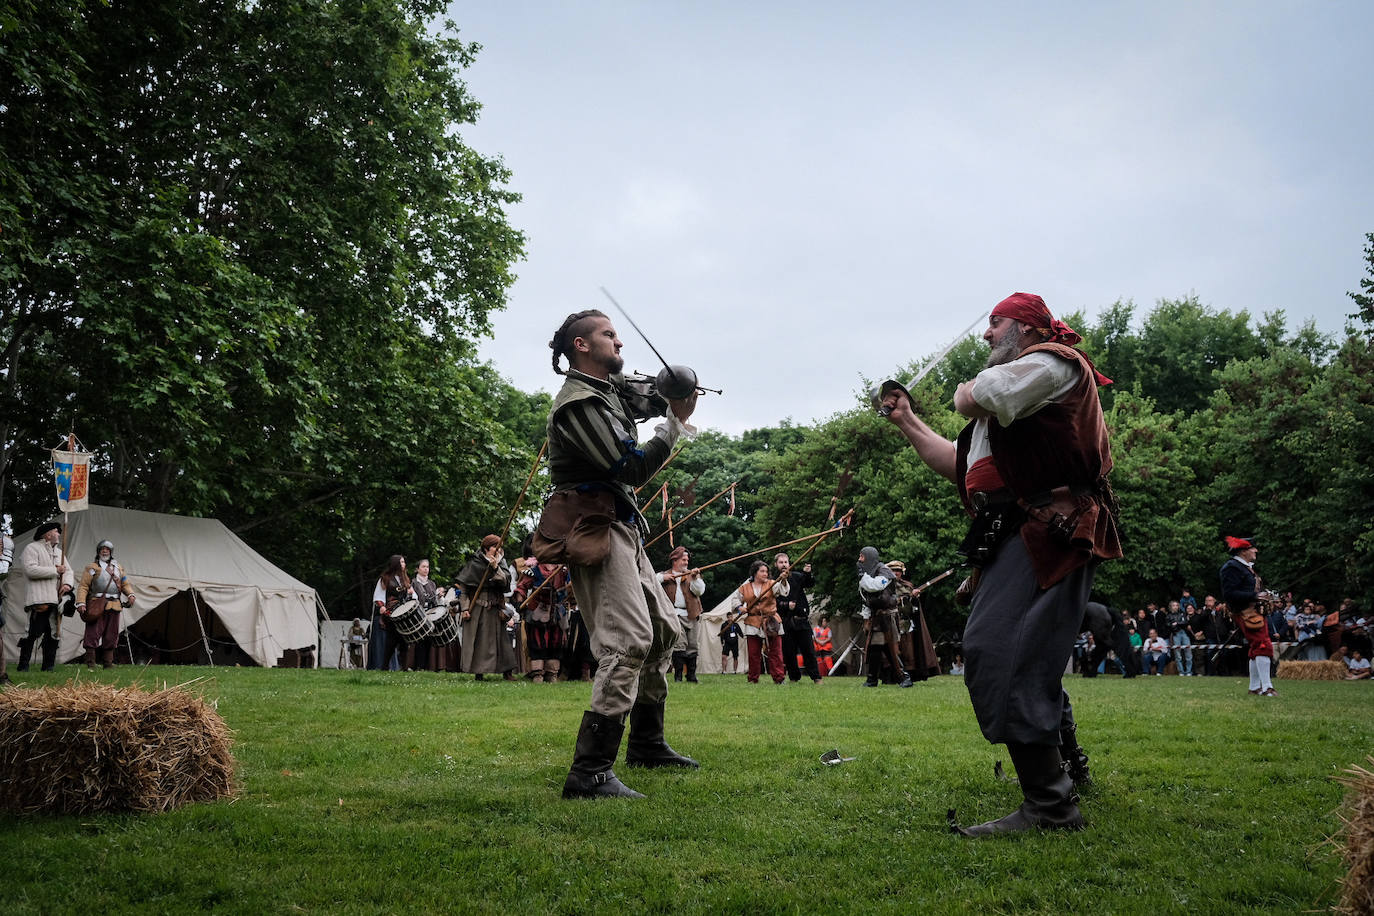
<path id="1" fill-rule="evenodd" d="M 1025 290 L 1338 331 L 1374 231 L 1374 3 L 455 3 L 528 235 L 482 354 L 555 390 L 607 287 L 727 433 Z M 617 320 L 627 368 L 657 371 Z"/>

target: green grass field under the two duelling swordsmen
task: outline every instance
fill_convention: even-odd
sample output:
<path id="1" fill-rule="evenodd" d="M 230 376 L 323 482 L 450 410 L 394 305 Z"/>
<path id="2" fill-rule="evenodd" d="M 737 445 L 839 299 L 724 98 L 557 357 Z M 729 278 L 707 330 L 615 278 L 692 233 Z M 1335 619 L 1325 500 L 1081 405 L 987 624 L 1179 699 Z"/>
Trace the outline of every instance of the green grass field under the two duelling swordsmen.
<path id="1" fill-rule="evenodd" d="M 23 676 L 65 683 L 74 667 Z M 0 817 L 21 913 L 1298 913 L 1336 901 L 1331 777 L 1374 753 L 1374 685 L 1070 677 L 1088 829 L 969 840 L 1020 802 L 960 678 L 675 684 L 697 772 L 559 798 L 587 684 L 115 669 L 235 732 L 242 795 L 161 816 Z M 824 766 L 838 747 L 856 759 Z M 0 775 L 3 777 L 3 775 Z"/>

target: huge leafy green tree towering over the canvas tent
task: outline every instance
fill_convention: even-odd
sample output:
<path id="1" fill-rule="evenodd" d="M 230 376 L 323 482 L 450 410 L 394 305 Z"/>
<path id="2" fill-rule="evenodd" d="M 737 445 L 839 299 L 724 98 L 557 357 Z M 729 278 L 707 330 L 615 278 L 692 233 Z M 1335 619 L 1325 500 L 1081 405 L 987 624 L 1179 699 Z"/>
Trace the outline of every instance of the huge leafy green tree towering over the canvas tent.
<path id="1" fill-rule="evenodd" d="M 371 564 L 504 522 L 539 411 L 471 339 L 523 239 L 444 8 L 8 8 L 7 511 L 47 514 L 29 444 L 74 424 L 102 501 L 220 515 L 312 581 L 295 541 Z"/>

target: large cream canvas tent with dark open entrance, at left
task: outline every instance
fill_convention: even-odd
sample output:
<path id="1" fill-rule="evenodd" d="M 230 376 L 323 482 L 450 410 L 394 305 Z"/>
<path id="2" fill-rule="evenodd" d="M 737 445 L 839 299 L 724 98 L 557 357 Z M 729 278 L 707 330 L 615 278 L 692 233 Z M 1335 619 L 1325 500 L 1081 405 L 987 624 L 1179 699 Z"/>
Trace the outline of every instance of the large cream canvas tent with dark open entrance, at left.
<path id="1" fill-rule="evenodd" d="M 122 612 L 121 629 L 148 617 L 148 625 L 168 622 L 180 633 L 194 633 L 192 645 L 203 644 L 203 629 L 212 640 L 213 661 L 221 659 L 214 641 L 223 645 L 228 637 L 264 667 L 275 667 L 286 650 L 319 641 L 315 589 L 265 560 L 217 519 L 92 505 L 71 512 L 67 520 L 67 556 L 77 582 L 81 569 L 95 558 L 95 545 L 106 538 L 114 541 L 115 559 L 136 597 Z M 29 626 L 19 553 L 36 530 L 14 538 L 15 567 L 4 597 L 4 652 L 11 662 L 19 656 L 19 639 Z M 82 654 L 82 632 L 80 617 L 62 618 L 58 662 Z M 40 658 L 41 647 L 36 645 L 32 663 L 37 666 Z"/>

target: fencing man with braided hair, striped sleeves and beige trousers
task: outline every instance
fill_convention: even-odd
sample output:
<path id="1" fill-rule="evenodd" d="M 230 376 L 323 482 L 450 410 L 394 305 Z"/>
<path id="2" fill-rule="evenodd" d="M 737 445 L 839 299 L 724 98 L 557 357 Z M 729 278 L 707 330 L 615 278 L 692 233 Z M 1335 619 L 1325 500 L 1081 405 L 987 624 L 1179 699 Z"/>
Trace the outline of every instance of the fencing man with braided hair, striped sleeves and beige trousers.
<path id="1" fill-rule="evenodd" d="M 566 559 L 599 666 L 591 709 L 583 714 L 563 798 L 640 794 L 613 764 L 629 718 L 631 766 L 697 766 L 664 739 L 668 661 L 677 614 L 644 553 L 647 525 L 633 488 L 668 460 L 697 407 L 695 391 L 668 402 L 654 435 L 636 442 L 633 412 L 618 385 L 624 361 L 610 320 L 596 310 L 569 314 L 548 343 L 563 386 L 548 415 L 554 493 L 533 547 L 541 562 Z M 567 371 L 559 365 L 567 358 Z"/>

